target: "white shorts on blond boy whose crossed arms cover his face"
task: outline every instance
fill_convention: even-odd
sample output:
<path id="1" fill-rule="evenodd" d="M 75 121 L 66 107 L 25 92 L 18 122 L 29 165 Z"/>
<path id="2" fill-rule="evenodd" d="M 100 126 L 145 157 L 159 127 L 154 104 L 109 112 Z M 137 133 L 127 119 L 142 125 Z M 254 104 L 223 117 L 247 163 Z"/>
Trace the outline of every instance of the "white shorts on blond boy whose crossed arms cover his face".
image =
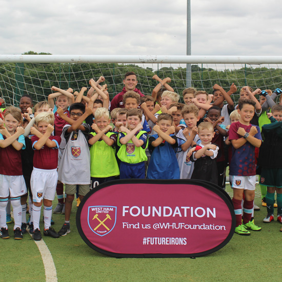
<path id="1" fill-rule="evenodd" d="M 53 200 L 57 180 L 57 169 L 33 168 L 30 179 L 33 202 L 40 203 L 43 199 Z"/>

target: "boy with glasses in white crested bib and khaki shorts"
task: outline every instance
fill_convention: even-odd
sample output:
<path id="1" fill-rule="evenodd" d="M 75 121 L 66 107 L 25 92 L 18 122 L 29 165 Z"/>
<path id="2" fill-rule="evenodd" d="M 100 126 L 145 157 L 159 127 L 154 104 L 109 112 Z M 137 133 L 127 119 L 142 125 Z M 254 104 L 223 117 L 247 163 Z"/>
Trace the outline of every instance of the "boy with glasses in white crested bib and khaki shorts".
<path id="1" fill-rule="evenodd" d="M 86 109 L 86 110 L 85 110 Z M 88 134 L 90 126 L 83 123 L 92 113 L 92 109 L 82 103 L 70 106 L 70 125 L 63 129 L 62 136 L 66 139 L 66 147 L 58 168 L 58 180 L 65 183 L 66 206 L 65 223 L 58 234 L 65 236 L 70 233 L 70 214 L 76 186 L 80 200 L 90 189 L 90 153 L 88 148 Z"/>

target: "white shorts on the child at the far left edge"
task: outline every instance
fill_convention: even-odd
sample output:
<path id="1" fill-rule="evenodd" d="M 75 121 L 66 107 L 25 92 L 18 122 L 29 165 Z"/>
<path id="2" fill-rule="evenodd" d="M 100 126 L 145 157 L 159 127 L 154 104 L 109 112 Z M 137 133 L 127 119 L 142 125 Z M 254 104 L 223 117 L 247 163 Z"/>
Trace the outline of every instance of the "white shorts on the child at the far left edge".
<path id="1" fill-rule="evenodd" d="M 0 198 L 16 198 L 27 193 L 25 178 L 23 175 L 0 174 Z"/>

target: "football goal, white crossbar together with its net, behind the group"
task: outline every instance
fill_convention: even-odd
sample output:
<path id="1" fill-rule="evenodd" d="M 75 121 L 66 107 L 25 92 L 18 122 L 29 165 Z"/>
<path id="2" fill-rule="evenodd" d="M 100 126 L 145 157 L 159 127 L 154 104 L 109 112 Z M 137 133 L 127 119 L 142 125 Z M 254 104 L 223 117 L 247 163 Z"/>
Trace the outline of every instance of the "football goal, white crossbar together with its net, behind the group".
<path id="1" fill-rule="evenodd" d="M 191 75 L 187 76 L 187 64 Z M 218 84 L 237 88 L 271 89 L 282 87 L 282 56 L 150 56 L 150 55 L 0 55 L 0 96 L 6 105 L 18 105 L 29 94 L 34 102 L 44 100 L 53 85 L 78 91 L 89 87 L 89 79 L 104 76 L 110 98 L 123 89 L 126 72 L 137 75 L 137 88 L 151 95 L 160 78 L 170 77 L 171 87 L 182 95 L 186 77 L 191 86 L 212 93 Z M 233 94 L 236 102 L 239 90 Z"/>

